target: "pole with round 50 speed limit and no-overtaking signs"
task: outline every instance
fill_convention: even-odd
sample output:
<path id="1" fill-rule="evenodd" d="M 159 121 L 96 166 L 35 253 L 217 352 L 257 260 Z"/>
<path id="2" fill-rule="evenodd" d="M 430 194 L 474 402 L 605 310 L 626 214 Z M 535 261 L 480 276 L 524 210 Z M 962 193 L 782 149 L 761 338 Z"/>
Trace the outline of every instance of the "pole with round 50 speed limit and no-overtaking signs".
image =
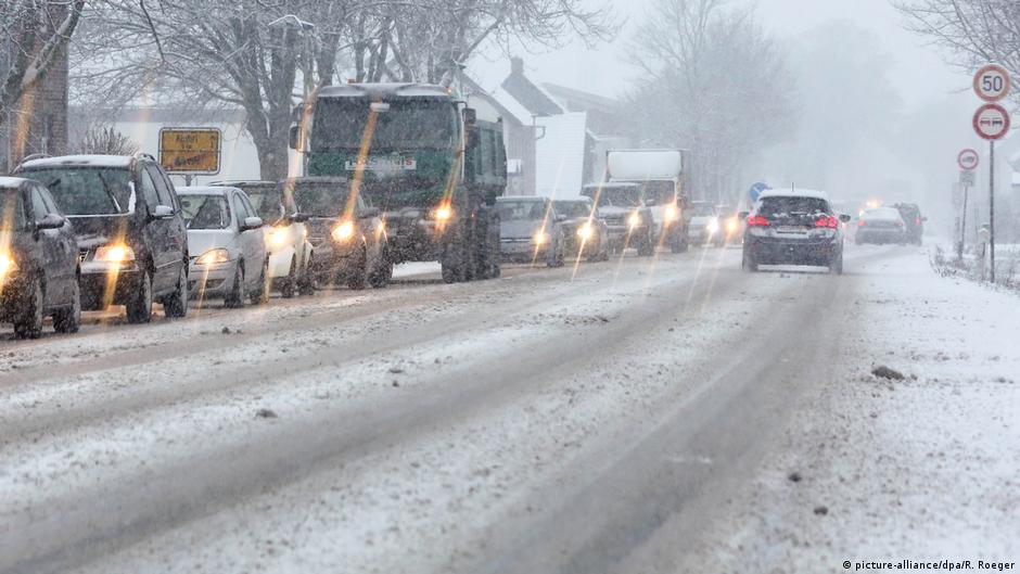
<path id="1" fill-rule="evenodd" d="M 974 93 L 986 103 L 974 113 L 973 125 L 978 136 L 989 140 L 989 280 L 995 283 L 995 140 L 1009 132 L 1009 112 L 995 103 L 1009 95 L 1009 72 L 989 64 L 974 74 Z"/>

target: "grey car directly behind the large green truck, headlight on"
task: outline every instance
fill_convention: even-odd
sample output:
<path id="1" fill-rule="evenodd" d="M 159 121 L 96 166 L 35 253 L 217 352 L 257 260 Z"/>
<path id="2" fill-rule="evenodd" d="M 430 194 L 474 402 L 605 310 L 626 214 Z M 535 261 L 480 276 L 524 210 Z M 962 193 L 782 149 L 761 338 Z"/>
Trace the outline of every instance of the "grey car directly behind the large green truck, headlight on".
<path id="1" fill-rule="evenodd" d="M 563 265 L 566 238 L 562 224 L 566 217 L 556 214 L 548 197 L 499 197 L 496 215 L 501 260 Z"/>

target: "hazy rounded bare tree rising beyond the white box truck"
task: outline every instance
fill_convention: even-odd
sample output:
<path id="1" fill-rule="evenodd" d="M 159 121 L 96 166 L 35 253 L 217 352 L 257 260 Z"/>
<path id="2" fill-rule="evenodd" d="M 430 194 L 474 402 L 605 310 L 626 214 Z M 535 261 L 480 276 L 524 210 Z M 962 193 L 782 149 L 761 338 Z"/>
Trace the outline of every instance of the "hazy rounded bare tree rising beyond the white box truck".
<path id="1" fill-rule="evenodd" d="M 636 141 L 689 148 L 696 196 L 728 199 L 792 120 L 786 59 L 750 9 L 726 0 L 658 0 L 632 60 L 643 71 L 626 105 Z"/>

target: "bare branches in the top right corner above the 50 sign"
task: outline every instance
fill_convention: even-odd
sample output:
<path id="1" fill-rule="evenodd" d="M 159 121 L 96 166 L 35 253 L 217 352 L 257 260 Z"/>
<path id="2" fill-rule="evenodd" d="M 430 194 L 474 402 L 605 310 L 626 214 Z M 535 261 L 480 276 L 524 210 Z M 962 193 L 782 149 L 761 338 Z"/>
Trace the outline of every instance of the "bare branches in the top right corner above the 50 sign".
<path id="1" fill-rule="evenodd" d="M 907 28 L 968 72 L 997 62 L 1020 77 L 1020 3 L 1013 0 L 898 0 Z M 1020 93 L 1013 92 L 1020 103 Z"/>

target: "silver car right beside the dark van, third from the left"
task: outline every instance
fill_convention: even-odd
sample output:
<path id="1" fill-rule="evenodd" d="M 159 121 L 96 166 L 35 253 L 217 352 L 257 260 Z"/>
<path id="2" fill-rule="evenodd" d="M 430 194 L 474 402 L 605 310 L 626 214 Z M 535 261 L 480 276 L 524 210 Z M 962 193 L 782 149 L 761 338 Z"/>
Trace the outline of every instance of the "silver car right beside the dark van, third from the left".
<path id="1" fill-rule="evenodd" d="M 178 188 L 177 194 L 188 226 L 194 297 L 222 297 L 228 307 L 267 302 L 266 229 L 247 195 L 230 187 Z"/>

